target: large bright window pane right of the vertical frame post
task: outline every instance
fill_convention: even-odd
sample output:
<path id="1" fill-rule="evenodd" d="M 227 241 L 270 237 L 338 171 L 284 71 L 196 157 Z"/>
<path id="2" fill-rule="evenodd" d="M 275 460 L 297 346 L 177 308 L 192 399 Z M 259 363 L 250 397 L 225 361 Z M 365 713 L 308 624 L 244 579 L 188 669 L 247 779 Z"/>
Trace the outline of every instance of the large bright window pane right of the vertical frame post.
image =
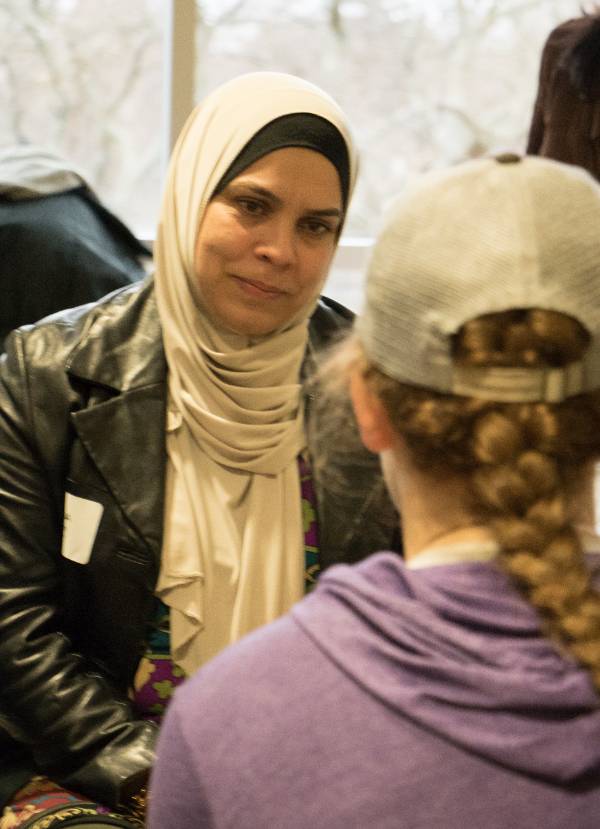
<path id="1" fill-rule="evenodd" d="M 248 69 L 292 72 L 348 113 L 362 170 L 346 235 L 423 170 L 523 150 L 550 29 L 579 0 L 200 0 L 197 98 Z"/>

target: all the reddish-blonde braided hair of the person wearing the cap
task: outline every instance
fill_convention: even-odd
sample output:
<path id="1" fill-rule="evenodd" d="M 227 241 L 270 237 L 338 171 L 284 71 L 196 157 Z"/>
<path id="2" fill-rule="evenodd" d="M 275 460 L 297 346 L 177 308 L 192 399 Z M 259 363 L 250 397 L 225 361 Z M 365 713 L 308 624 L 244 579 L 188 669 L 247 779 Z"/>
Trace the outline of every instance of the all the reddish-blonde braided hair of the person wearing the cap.
<path id="1" fill-rule="evenodd" d="M 509 311 L 463 326 L 454 358 L 557 367 L 578 359 L 588 340 L 564 314 Z M 569 508 L 573 481 L 600 457 L 600 393 L 560 404 L 496 403 L 408 386 L 360 362 L 417 466 L 466 476 L 473 512 L 494 532 L 506 571 L 600 691 L 600 594 Z"/>

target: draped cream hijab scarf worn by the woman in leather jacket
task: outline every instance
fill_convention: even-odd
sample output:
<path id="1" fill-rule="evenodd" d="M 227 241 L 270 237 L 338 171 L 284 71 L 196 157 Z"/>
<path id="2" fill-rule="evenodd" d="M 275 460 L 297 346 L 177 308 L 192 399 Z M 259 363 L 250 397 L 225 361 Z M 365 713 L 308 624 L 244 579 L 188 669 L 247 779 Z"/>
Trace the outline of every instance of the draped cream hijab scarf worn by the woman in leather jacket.
<path id="1" fill-rule="evenodd" d="M 263 126 L 299 112 L 341 133 L 350 196 L 356 158 L 341 110 L 318 87 L 270 72 L 226 83 L 192 112 L 167 176 L 155 246 L 168 364 L 157 595 L 170 607 L 172 657 L 187 674 L 303 592 L 299 373 L 317 296 L 283 330 L 250 340 L 213 325 L 194 277 L 196 236 L 216 185 Z"/>

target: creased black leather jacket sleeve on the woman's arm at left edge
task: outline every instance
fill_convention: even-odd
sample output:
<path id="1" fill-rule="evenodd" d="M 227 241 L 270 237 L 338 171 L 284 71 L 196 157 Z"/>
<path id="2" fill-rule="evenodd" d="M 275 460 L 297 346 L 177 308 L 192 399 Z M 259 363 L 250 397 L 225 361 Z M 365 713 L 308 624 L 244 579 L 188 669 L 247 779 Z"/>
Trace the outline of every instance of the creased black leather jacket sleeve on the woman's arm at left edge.
<path id="1" fill-rule="evenodd" d="M 76 397 L 57 359 L 65 348 L 57 330 L 42 329 L 27 348 L 26 335 L 11 335 L 0 359 L 0 708 L 38 773 L 114 806 L 147 776 L 157 728 L 135 719 L 124 691 L 64 628 L 64 476 Z"/>

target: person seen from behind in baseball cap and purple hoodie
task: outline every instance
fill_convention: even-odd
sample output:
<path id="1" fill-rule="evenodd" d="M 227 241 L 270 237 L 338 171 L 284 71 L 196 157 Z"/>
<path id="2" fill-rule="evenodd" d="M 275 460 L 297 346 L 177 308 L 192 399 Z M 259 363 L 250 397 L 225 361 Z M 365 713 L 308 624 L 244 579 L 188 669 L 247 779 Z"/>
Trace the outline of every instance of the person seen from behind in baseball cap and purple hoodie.
<path id="1" fill-rule="evenodd" d="M 407 188 L 329 369 L 405 559 L 330 569 L 177 690 L 149 829 L 596 829 L 599 224 L 546 159 Z"/>

